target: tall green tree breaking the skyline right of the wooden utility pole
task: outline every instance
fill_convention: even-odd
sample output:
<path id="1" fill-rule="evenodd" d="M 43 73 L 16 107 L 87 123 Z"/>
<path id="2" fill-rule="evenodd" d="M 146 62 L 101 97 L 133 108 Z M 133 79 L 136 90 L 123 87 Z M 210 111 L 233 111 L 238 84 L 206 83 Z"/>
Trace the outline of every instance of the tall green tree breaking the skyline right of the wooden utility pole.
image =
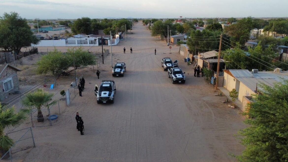
<path id="1" fill-rule="evenodd" d="M 254 29 L 253 19 L 251 17 L 247 17 L 238 20 L 236 24 L 225 27 L 224 31 L 230 36 L 230 40 L 232 42 L 239 42 L 241 45 L 244 45 L 249 39 L 250 31 L 252 29 Z"/>

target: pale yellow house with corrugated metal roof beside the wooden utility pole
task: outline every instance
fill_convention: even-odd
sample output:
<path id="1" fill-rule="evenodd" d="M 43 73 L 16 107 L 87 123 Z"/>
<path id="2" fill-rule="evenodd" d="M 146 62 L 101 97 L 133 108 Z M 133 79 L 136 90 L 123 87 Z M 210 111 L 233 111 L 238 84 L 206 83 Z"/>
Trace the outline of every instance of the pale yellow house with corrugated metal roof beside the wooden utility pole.
<path id="1" fill-rule="evenodd" d="M 278 68 L 275 71 L 259 71 L 258 69 L 249 70 L 223 70 L 224 84 L 219 89 L 226 95 L 233 88 L 238 92 L 238 102 L 242 104 L 240 109 L 245 111 L 247 103 L 251 102 L 251 96 L 263 91 L 260 83 L 268 86 L 274 86 L 277 82 L 282 82 L 283 79 L 288 80 L 288 71 L 281 71 Z"/>

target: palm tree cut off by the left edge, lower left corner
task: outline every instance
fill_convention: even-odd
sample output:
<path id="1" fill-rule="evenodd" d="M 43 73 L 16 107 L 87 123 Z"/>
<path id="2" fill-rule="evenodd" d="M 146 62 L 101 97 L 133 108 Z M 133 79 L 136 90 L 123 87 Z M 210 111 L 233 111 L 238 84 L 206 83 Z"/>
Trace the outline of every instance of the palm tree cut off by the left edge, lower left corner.
<path id="1" fill-rule="evenodd" d="M 4 130 L 9 127 L 16 127 L 26 119 L 23 112 L 15 112 L 15 108 L 2 106 L 0 103 L 0 151 L 6 152 L 13 146 L 14 141 L 5 135 Z M 1 155 L 2 156 L 2 155 Z M 1 157 L 0 156 L 0 157 Z"/>

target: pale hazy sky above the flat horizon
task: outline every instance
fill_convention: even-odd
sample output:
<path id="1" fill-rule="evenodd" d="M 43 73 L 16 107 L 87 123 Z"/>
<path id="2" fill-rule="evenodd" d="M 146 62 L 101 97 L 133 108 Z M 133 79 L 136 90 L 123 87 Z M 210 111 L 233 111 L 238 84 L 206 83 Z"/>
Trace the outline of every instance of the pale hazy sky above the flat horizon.
<path id="1" fill-rule="evenodd" d="M 284 7 L 281 7 L 284 6 Z M 288 17 L 288 0 L 0 0 L 26 19 Z"/>

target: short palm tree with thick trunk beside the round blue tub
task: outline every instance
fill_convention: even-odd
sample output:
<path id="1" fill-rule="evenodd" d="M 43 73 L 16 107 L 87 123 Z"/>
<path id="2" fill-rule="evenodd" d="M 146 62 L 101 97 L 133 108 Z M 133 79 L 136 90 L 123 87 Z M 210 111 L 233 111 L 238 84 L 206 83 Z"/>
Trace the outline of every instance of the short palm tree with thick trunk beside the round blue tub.
<path id="1" fill-rule="evenodd" d="M 46 92 L 43 89 L 37 89 L 35 92 L 26 95 L 22 100 L 22 105 L 27 109 L 21 109 L 21 111 L 31 115 L 36 109 L 38 111 L 37 121 L 43 122 L 44 118 L 41 108 L 44 106 L 49 109 L 49 107 L 53 106 L 56 103 L 56 101 L 50 102 L 53 96 L 53 93 Z"/>

